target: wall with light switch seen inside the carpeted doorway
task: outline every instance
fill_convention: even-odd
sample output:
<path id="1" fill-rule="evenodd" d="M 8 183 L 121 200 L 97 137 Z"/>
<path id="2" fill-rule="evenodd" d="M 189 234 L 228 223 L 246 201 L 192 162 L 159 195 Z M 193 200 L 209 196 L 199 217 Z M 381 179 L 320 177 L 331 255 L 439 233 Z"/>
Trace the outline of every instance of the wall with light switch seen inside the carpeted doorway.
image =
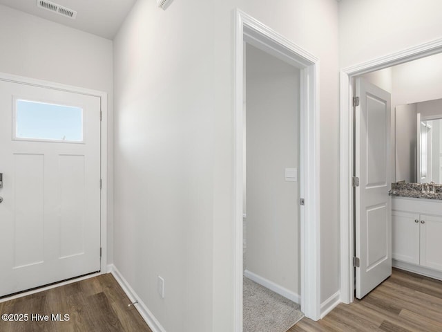
<path id="1" fill-rule="evenodd" d="M 298 68 L 247 45 L 245 268 L 300 294 Z"/>

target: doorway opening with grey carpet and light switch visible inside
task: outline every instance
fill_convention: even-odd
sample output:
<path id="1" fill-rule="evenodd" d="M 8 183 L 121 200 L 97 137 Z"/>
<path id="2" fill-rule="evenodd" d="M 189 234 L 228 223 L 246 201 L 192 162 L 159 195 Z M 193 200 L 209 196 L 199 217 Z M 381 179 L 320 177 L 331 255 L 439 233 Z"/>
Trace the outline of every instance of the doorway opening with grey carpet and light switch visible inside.
<path id="1" fill-rule="evenodd" d="M 300 71 L 244 46 L 244 332 L 300 318 Z M 246 189 L 247 188 L 247 189 Z"/>

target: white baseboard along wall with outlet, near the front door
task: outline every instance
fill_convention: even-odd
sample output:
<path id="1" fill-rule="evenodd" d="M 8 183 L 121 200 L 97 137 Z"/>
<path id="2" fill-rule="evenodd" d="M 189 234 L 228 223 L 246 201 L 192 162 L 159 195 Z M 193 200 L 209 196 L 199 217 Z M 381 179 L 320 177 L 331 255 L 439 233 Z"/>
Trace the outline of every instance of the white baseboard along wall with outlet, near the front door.
<path id="1" fill-rule="evenodd" d="M 153 332 L 166 332 L 164 327 L 161 326 L 160 322 L 158 322 L 153 313 L 151 313 L 151 311 L 147 308 L 146 304 L 142 302 L 142 299 L 140 299 L 137 293 L 133 291 L 133 288 L 128 284 L 126 279 L 124 279 L 122 274 L 119 273 L 119 270 L 115 267 L 115 265 L 111 264 L 110 266 L 108 266 L 108 270 L 111 270 L 112 275 L 117 280 L 119 286 L 123 288 L 124 293 L 126 293 L 131 302 L 138 301 L 138 303 L 134 306 L 143 317 L 143 319 L 146 321 L 148 326 L 151 328 L 151 330 Z"/>

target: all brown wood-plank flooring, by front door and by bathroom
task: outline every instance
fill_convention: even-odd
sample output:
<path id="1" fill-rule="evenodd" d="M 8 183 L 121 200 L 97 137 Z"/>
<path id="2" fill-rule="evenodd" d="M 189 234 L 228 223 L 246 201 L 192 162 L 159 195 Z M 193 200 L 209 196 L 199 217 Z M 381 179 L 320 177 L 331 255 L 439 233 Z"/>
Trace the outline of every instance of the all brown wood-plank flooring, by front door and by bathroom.
<path id="1" fill-rule="evenodd" d="M 152 332 L 113 275 L 99 275 L 0 303 L 0 314 L 69 314 L 67 322 L 3 322 L 1 332 Z M 303 318 L 287 332 L 441 332 L 442 282 L 393 270 L 362 300 L 323 320 Z"/>

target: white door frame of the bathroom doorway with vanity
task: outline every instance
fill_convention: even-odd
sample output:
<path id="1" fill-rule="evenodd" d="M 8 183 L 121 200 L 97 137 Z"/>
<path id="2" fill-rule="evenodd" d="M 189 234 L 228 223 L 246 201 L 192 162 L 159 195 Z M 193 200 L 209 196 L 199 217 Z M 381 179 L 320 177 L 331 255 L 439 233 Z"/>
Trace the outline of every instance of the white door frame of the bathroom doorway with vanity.
<path id="1" fill-rule="evenodd" d="M 407 48 L 396 53 L 378 57 L 340 71 L 340 301 L 354 300 L 354 274 L 352 266 L 354 248 L 353 187 L 353 121 L 352 78 L 372 71 L 378 71 L 396 64 L 442 53 L 442 39 Z M 394 165 L 394 164 L 393 164 Z"/>

